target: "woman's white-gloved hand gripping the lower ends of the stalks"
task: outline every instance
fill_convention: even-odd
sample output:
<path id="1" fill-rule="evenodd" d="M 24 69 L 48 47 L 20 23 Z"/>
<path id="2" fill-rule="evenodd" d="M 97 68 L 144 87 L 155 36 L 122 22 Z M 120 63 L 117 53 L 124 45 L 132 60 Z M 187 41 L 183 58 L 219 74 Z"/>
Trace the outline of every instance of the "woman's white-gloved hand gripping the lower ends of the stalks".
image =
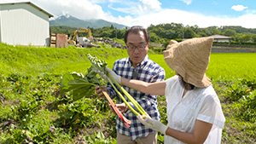
<path id="1" fill-rule="evenodd" d="M 162 124 L 160 121 L 152 119 L 150 117 L 146 117 L 145 119 L 143 119 L 141 115 L 138 115 L 137 118 L 149 129 L 160 131 L 160 133 L 166 135 L 166 130 L 168 129 L 167 125 Z"/>

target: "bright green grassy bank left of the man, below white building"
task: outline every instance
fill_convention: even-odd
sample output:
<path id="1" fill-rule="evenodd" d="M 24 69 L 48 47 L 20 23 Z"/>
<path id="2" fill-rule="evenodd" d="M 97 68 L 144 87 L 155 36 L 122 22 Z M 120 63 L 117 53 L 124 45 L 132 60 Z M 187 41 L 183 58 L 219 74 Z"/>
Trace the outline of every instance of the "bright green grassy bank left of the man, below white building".
<path id="1" fill-rule="evenodd" d="M 62 74 L 84 72 L 90 66 L 87 54 L 97 55 L 102 60 L 113 61 L 126 57 L 125 49 L 55 49 L 10 46 L 0 43 L 0 73 L 38 75 L 40 73 Z"/>

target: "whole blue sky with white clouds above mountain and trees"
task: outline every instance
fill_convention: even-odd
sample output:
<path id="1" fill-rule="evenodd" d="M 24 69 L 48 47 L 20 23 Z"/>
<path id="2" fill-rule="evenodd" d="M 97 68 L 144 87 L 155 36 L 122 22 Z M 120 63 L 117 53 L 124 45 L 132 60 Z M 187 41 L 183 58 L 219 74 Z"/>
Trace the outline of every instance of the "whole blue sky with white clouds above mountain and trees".
<path id="1" fill-rule="evenodd" d="M 10 0 L 0 0 L 0 2 Z M 12 0 L 24 2 L 24 0 Z M 125 26 L 164 23 L 256 28 L 256 0 L 30 0 L 55 15 L 103 19 Z"/>

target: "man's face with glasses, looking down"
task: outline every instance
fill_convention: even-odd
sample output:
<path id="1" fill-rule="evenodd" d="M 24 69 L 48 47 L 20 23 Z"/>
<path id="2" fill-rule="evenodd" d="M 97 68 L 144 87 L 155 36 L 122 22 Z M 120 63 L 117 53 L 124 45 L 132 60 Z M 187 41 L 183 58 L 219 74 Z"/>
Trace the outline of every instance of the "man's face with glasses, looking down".
<path id="1" fill-rule="evenodd" d="M 145 56 L 148 54 L 148 45 L 149 43 L 146 42 L 143 32 L 128 34 L 126 46 L 128 55 L 132 61 L 132 66 L 136 67 L 137 64 L 144 60 Z M 135 49 L 129 49 L 134 46 L 136 46 Z M 143 46 L 145 46 L 145 49 L 140 49 Z"/>

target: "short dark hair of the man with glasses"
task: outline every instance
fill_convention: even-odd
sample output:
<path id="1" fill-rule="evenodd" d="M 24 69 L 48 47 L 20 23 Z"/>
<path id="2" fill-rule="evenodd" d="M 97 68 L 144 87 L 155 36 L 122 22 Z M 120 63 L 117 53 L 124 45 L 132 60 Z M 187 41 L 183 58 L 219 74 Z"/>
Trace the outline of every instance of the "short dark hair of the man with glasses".
<path id="1" fill-rule="evenodd" d="M 139 32 L 143 32 L 144 33 L 144 37 L 146 39 L 146 42 L 149 43 L 150 42 L 150 36 L 149 36 L 149 33 L 148 33 L 148 30 L 145 29 L 143 26 L 131 26 L 130 28 L 128 28 L 128 30 L 125 32 L 125 44 L 127 42 L 127 37 L 128 37 L 128 34 L 131 32 L 131 33 L 134 33 L 134 34 L 138 34 Z"/>

